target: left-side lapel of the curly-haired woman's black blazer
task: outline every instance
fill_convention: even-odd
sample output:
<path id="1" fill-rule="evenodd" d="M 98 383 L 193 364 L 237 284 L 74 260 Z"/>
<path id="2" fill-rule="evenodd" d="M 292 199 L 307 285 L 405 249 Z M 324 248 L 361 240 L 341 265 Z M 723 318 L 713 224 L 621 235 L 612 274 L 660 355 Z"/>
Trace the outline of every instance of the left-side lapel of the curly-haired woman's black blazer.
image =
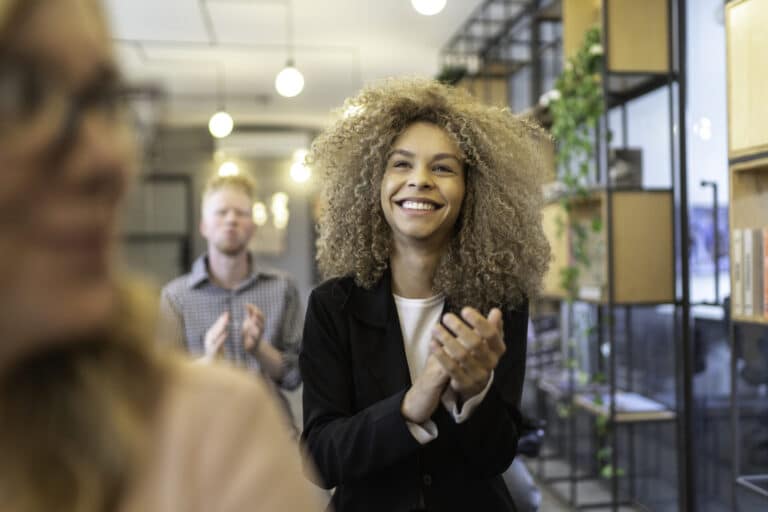
<path id="1" fill-rule="evenodd" d="M 411 376 L 389 272 L 374 288 L 354 290 L 350 307 L 360 321 L 360 332 L 353 339 L 366 354 L 368 369 L 384 396 L 393 395 L 410 387 Z"/>

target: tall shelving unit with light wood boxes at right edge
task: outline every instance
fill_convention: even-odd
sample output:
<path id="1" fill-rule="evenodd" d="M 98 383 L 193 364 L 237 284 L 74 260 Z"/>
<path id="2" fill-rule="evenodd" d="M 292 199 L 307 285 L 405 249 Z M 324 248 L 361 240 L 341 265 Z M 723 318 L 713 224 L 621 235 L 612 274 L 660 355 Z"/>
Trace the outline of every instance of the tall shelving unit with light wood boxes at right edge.
<path id="1" fill-rule="evenodd" d="M 768 401 L 768 2 L 725 6 L 731 251 L 731 428 L 734 508 L 768 510 L 768 459 L 762 431 Z M 750 412 L 757 401 L 757 415 Z"/>

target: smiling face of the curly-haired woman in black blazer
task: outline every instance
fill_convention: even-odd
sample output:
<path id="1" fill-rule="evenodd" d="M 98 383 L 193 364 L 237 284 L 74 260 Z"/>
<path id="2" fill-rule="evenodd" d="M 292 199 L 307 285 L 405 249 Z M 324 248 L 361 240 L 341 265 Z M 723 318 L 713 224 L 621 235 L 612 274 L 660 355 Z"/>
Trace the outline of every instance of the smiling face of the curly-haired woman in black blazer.
<path id="1" fill-rule="evenodd" d="M 442 250 L 464 200 L 464 164 L 453 139 L 432 123 L 408 126 L 392 144 L 381 208 L 401 248 Z"/>

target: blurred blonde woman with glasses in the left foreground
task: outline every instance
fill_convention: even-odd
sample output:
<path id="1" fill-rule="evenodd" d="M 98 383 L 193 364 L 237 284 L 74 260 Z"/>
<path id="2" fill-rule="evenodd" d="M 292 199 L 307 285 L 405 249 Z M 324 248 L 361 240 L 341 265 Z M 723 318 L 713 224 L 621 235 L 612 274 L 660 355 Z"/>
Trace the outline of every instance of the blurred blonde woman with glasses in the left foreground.
<path id="1" fill-rule="evenodd" d="M 123 90 L 98 2 L 0 0 L 0 507 L 317 510 L 265 388 L 155 352 L 115 276 Z"/>

